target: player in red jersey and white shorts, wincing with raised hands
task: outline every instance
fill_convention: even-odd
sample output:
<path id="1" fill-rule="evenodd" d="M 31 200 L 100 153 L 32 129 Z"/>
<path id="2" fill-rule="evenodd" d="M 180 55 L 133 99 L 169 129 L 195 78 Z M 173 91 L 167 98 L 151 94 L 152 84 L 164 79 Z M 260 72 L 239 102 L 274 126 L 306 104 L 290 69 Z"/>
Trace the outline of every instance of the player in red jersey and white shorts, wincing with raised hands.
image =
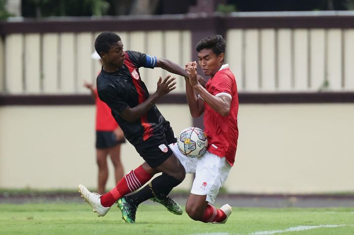
<path id="1" fill-rule="evenodd" d="M 221 35 L 205 37 L 198 42 L 199 66 L 204 75 L 210 76 L 205 88 L 197 81 L 197 63 L 186 65 L 188 105 L 193 117 L 204 113 L 207 152 L 200 158 L 188 158 L 175 144 L 170 145 L 186 173 L 196 173 L 186 212 L 194 220 L 213 223 L 225 223 L 232 212 L 229 204 L 220 209 L 211 204 L 234 164 L 238 139 L 237 86 L 234 74 L 225 64 L 225 48 Z"/>

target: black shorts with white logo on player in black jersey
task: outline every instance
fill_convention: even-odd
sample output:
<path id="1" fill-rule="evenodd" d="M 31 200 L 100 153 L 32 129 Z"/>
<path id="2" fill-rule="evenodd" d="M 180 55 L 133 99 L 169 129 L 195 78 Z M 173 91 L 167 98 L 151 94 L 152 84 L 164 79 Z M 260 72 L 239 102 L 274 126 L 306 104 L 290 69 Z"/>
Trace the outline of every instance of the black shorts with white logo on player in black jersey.
<path id="1" fill-rule="evenodd" d="M 149 142 L 149 139 L 147 139 L 144 147 L 136 146 L 135 148 L 151 168 L 156 168 L 173 154 L 168 145 L 176 143 L 176 137 L 174 137 L 172 128 L 168 126 L 164 137 L 162 137 L 160 141 L 154 140 L 153 143 Z"/>

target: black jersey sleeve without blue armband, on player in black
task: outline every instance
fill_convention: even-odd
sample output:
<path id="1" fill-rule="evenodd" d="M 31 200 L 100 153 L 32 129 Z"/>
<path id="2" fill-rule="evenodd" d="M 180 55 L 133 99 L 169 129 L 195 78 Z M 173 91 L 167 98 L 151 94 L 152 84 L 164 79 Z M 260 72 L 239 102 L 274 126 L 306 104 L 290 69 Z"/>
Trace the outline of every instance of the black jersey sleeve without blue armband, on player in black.
<path id="1" fill-rule="evenodd" d="M 98 96 L 108 105 L 111 110 L 115 110 L 118 113 L 122 112 L 128 104 L 118 95 L 117 91 L 113 87 L 107 87 L 98 91 Z"/>

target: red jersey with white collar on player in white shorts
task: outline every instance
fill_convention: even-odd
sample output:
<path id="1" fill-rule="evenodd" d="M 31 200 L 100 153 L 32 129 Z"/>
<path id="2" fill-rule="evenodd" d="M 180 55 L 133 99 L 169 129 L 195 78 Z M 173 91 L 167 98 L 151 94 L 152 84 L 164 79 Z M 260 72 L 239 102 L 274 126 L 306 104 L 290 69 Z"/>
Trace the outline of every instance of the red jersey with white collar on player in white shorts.
<path id="1" fill-rule="evenodd" d="M 234 74 L 229 65 L 223 65 L 206 83 L 206 90 L 215 97 L 227 96 L 231 98 L 230 113 L 223 117 L 204 103 L 204 126 L 208 137 L 208 151 L 219 157 L 226 157 L 231 166 L 234 165 L 237 139 L 237 113 L 239 99 Z"/>

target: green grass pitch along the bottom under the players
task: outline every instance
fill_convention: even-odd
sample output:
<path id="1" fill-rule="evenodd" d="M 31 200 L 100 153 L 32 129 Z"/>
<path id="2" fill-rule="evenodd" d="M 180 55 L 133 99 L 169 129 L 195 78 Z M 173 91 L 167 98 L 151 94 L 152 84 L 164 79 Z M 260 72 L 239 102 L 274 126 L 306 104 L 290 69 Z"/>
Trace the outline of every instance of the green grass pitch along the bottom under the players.
<path id="1" fill-rule="evenodd" d="M 268 234 L 354 234 L 354 208 L 233 208 L 226 224 L 210 224 L 193 221 L 186 213 L 182 216 L 170 214 L 159 204 L 143 204 L 139 207 L 136 221 L 136 224 L 125 223 L 115 206 L 105 217 L 97 217 L 86 203 L 0 204 L 1 235 L 247 235 L 256 231 L 326 224 L 345 226 Z"/>

